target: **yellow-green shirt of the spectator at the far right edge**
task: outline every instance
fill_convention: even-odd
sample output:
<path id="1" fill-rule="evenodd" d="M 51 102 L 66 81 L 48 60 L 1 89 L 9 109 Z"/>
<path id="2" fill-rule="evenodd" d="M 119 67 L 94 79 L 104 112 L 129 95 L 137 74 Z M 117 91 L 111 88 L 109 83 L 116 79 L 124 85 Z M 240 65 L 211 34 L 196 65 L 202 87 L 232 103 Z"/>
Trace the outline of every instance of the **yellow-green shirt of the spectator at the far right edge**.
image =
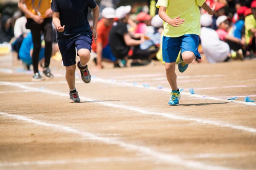
<path id="1" fill-rule="evenodd" d="M 250 37 L 253 36 L 253 33 L 250 31 L 250 29 L 256 29 L 256 19 L 254 18 L 253 14 L 248 15 L 245 17 L 244 20 L 244 26 L 245 26 L 245 43 L 250 43 Z"/>

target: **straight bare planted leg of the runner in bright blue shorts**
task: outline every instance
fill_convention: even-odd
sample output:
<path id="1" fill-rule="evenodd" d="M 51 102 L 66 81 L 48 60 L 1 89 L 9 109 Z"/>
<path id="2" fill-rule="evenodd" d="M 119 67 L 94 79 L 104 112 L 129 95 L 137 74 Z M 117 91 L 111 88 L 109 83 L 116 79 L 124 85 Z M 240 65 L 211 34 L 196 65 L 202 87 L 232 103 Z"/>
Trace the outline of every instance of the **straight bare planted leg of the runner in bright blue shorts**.
<path id="1" fill-rule="evenodd" d="M 166 68 L 166 78 L 172 88 L 172 90 L 177 90 L 177 75 L 175 73 L 175 62 L 165 63 Z"/>

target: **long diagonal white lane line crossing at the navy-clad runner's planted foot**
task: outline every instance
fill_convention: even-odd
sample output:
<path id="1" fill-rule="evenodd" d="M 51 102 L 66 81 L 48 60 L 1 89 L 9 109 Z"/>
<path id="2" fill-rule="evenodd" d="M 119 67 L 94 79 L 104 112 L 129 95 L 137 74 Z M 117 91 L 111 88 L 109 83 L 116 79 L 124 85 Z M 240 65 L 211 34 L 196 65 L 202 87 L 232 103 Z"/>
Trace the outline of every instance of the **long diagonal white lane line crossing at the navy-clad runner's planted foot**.
<path id="1" fill-rule="evenodd" d="M 33 90 L 36 92 L 43 92 L 43 93 L 49 93 L 52 95 L 60 95 L 60 96 L 64 96 L 64 97 L 69 97 L 69 95 L 65 94 L 65 93 L 55 92 L 55 91 L 51 91 L 51 90 L 47 90 L 47 89 L 33 88 L 33 87 L 21 85 L 19 83 L 3 82 L 3 81 L 0 81 L 0 83 L 10 85 L 10 86 L 17 86 L 22 89 Z M 83 101 L 97 101 L 95 99 L 84 98 L 82 96 L 80 96 L 80 99 Z M 104 101 L 104 102 L 98 101 L 97 103 L 102 104 L 104 106 L 108 106 L 108 107 L 115 107 L 115 108 L 126 109 L 126 110 L 130 110 L 130 111 L 134 111 L 134 112 L 139 112 L 144 115 L 158 115 L 158 116 L 163 116 L 165 118 L 174 119 L 174 120 L 195 121 L 200 124 L 211 124 L 211 125 L 218 126 L 218 127 L 229 127 L 229 128 L 236 129 L 236 130 L 243 130 L 243 131 L 247 131 L 250 133 L 256 133 L 256 129 L 252 128 L 252 127 L 244 127 L 244 126 L 240 126 L 240 125 L 233 125 L 233 124 L 228 124 L 228 123 L 219 122 L 219 121 L 211 121 L 211 120 L 200 119 L 200 118 L 192 118 L 191 116 L 185 117 L 185 116 L 179 115 L 178 113 L 175 114 L 174 112 L 172 112 L 172 113 L 171 112 L 168 112 L 168 113 L 150 112 L 150 111 L 145 110 L 144 108 L 131 107 L 130 105 L 124 106 L 124 105 L 120 105 L 120 104 L 111 104 L 110 102 L 107 102 L 107 101 Z"/>

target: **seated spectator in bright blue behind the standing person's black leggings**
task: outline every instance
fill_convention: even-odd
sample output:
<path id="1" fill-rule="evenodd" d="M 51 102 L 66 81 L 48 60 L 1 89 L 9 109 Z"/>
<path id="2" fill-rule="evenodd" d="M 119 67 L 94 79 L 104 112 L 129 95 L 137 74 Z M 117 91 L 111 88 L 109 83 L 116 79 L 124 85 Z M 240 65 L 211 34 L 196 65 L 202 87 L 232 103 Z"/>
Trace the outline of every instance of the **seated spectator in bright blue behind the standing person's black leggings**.
<path id="1" fill-rule="evenodd" d="M 24 69 L 26 70 L 29 70 L 30 65 L 32 64 L 33 47 L 34 46 L 32 42 L 32 34 L 31 32 L 29 32 L 26 35 L 26 37 L 24 37 L 19 50 L 20 60 L 23 63 Z M 42 45 L 42 48 L 40 49 L 40 52 L 39 52 L 39 64 L 38 64 L 38 68 L 40 68 L 41 71 L 43 70 L 43 68 L 41 67 L 41 63 L 43 62 L 44 62 L 44 46 Z"/>

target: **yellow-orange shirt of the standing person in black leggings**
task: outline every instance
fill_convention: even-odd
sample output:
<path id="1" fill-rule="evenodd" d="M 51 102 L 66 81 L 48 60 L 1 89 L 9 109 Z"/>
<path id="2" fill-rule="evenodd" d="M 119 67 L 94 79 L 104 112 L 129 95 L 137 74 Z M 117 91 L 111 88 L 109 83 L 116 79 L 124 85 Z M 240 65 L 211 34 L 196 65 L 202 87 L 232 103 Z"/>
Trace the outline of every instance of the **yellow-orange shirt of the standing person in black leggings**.
<path id="1" fill-rule="evenodd" d="M 32 5 L 33 1 L 34 1 L 34 6 Z M 51 8 L 51 0 L 25 0 L 25 5 L 27 9 L 33 14 L 35 15 L 41 14 L 41 17 L 45 18 L 44 16 L 45 12 L 47 11 L 47 9 Z"/>

